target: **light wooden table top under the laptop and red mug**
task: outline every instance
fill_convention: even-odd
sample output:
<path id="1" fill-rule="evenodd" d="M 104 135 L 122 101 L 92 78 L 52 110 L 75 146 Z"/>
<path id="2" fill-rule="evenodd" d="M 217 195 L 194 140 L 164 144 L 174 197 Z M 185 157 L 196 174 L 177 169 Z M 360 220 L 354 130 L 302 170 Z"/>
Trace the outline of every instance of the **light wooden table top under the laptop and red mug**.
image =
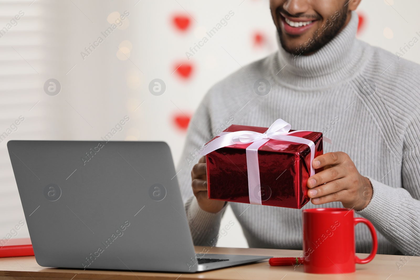
<path id="1" fill-rule="evenodd" d="M 196 252 L 202 251 L 203 247 L 196 247 Z M 212 254 L 244 254 L 263 256 L 299 256 L 301 251 L 278 250 L 278 249 L 237 249 L 237 248 L 211 248 Z M 358 254 L 365 257 L 366 254 Z M 190 280 L 190 279 L 234 279 L 234 280 L 291 280 L 291 279 L 368 279 L 368 280 L 402 280 L 420 279 L 420 257 L 414 256 L 399 269 L 396 262 L 402 256 L 376 255 L 375 259 L 368 264 L 357 264 L 354 273 L 345 275 L 320 275 L 303 272 L 302 266 L 270 267 L 268 261 L 260 261 L 236 267 L 220 270 L 212 270 L 201 273 L 153 273 L 138 271 L 113 271 L 113 270 L 79 270 L 40 267 L 33 256 L 1 258 L 0 279 L 129 279 L 129 280 Z"/>

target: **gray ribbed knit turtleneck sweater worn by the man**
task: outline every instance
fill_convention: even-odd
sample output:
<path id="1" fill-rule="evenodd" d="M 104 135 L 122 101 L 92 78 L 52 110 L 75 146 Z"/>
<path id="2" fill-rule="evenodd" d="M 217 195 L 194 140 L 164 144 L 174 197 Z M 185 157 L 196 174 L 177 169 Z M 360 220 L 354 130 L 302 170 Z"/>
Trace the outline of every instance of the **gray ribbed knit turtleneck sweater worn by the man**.
<path id="1" fill-rule="evenodd" d="M 312 55 L 294 57 L 279 45 L 278 52 L 241 68 L 205 95 L 178 164 L 196 245 L 214 244 L 226 209 L 205 212 L 192 195 L 197 149 L 226 124 L 268 127 L 281 118 L 292 129 L 325 133 L 333 144 L 324 144 L 324 153 L 346 152 L 370 179 L 373 199 L 356 216 L 375 225 L 378 254 L 420 254 L 420 67 L 356 39 L 357 24 L 353 12 L 349 24 Z M 254 92 L 258 79 L 270 82 L 268 95 Z M 229 203 L 250 247 L 302 249 L 302 209 Z M 342 205 L 309 202 L 303 209 L 313 207 Z M 369 230 L 357 225 L 356 251 L 370 249 Z"/>

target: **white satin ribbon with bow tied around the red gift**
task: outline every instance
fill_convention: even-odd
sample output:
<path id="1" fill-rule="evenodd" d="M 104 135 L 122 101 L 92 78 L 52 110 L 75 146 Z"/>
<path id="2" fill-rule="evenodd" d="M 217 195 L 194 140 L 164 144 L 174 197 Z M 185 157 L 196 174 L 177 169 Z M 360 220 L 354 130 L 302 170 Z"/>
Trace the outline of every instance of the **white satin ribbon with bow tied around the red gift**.
<path id="1" fill-rule="evenodd" d="M 259 133 L 255 131 L 234 131 L 234 132 L 222 132 L 219 134 L 220 137 L 207 143 L 204 146 L 204 151 L 199 152 L 199 155 L 209 154 L 217 149 L 234 145 L 234 144 L 249 144 L 246 149 L 247 154 L 247 170 L 248 170 L 248 191 L 249 191 L 249 203 L 259 204 L 261 202 L 261 183 L 260 183 L 260 167 L 258 164 L 258 149 L 264 145 L 270 139 L 283 140 L 288 142 L 294 142 L 299 144 L 308 145 L 310 148 L 310 176 L 315 174 L 315 170 L 312 167 L 312 160 L 315 155 L 315 143 L 309 139 L 302 137 L 291 136 L 290 134 L 305 131 L 295 130 L 289 132 L 291 125 L 282 119 L 276 120 L 265 133 Z M 311 131 L 312 132 L 312 131 Z M 258 195 L 259 194 L 259 195 Z"/>

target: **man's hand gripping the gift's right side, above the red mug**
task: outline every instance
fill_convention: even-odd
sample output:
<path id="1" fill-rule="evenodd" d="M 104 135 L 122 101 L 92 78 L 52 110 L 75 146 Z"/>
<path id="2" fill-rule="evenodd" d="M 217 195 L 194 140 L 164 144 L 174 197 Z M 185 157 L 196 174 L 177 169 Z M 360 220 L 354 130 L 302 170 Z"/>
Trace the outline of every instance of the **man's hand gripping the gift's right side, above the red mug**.
<path id="1" fill-rule="evenodd" d="M 324 170 L 308 178 L 308 196 L 312 204 L 341 201 L 344 207 L 362 210 L 372 199 L 369 179 L 360 175 L 349 155 L 332 152 L 315 157 L 315 169 Z"/>

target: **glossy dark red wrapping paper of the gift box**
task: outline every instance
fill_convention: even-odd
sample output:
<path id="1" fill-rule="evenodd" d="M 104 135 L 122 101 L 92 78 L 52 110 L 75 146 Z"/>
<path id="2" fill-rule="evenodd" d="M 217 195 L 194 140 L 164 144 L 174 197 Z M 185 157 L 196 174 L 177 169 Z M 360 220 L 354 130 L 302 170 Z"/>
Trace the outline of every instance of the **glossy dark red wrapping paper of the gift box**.
<path id="1" fill-rule="evenodd" d="M 224 131 L 264 133 L 267 129 L 231 125 Z M 301 131 L 291 135 L 313 141 L 315 157 L 323 154 L 322 133 Z M 249 203 L 246 156 L 249 145 L 234 144 L 206 155 L 209 199 Z M 258 149 L 258 165 L 262 205 L 300 209 L 310 200 L 306 186 L 310 177 L 310 149 L 307 145 L 270 139 Z M 315 169 L 315 173 L 321 170 Z"/>

